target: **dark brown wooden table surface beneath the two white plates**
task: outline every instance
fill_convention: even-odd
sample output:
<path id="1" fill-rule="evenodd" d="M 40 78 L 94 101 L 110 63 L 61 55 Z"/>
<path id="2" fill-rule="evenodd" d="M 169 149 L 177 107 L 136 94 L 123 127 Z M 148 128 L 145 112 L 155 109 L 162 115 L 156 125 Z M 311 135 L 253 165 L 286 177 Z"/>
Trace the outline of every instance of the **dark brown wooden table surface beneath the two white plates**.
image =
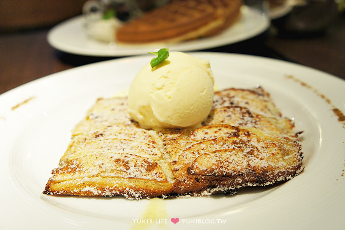
<path id="1" fill-rule="evenodd" d="M 49 29 L 0 34 L 0 94 L 49 74 L 118 58 L 79 56 L 57 51 L 47 43 Z M 339 14 L 320 33 L 288 36 L 277 32 L 277 25 L 273 23 L 267 31 L 255 38 L 202 51 L 277 58 L 345 79 L 345 14 Z"/>

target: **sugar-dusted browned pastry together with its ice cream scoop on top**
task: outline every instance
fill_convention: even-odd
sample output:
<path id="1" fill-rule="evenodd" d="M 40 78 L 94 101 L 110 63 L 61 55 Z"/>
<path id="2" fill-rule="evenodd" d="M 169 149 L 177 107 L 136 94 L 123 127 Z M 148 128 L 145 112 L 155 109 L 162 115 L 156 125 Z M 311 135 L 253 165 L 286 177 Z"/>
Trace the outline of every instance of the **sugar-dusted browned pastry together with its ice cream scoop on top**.
<path id="1" fill-rule="evenodd" d="M 182 60 L 180 65 L 172 64 L 178 60 Z M 143 68 L 128 96 L 99 98 L 72 130 L 71 142 L 44 193 L 120 195 L 128 199 L 233 194 L 239 188 L 272 185 L 301 173 L 300 133 L 262 87 L 214 92 L 210 109 L 200 122 L 180 122 L 181 113 L 195 116 L 193 111 L 187 111 L 189 101 L 198 108 L 208 106 L 204 103 L 209 98 L 206 86 L 213 86 L 209 67 L 208 62 L 171 52 L 156 67 Z M 184 71 L 171 72 L 174 77 L 181 75 L 174 86 L 167 74 L 169 68 Z M 203 71 L 204 79 L 193 82 L 205 87 L 194 96 L 193 90 L 199 90 L 198 86 L 184 84 L 188 82 L 184 78 L 190 79 L 190 74 L 195 73 L 200 77 Z M 165 84 L 159 83 L 162 73 Z M 152 82 L 160 87 L 153 90 Z M 151 90 L 146 93 L 150 96 L 140 94 L 146 88 Z M 182 98 L 173 92 L 182 93 Z M 132 93 L 142 96 L 136 98 Z M 161 95 L 166 95 L 162 104 L 170 109 L 156 113 L 154 100 Z M 199 97 L 204 104 L 197 101 Z M 174 102 L 176 98 L 179 103 Z M 145 110 L 137 109 L 139 104 Z M 154 119 L 140 119 L 145 113 L 152 113 Z M 179 122 L 170 122 L 172 115 Z"/>

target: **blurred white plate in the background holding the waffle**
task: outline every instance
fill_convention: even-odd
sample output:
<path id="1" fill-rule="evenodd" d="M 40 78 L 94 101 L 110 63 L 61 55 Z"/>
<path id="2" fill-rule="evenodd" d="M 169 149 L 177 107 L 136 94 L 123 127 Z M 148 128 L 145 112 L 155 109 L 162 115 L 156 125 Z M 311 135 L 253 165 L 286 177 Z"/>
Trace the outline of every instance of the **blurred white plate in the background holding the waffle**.
<path id="1" fill-rule="evenodd" d="M 265 14 L 246 6 L 241 9 L 241 12 L 242 17 L 240 20 L 219 35 L 169 44 L 168 47 L 170 47 L 171 51 L 193 51 L 214 48 L 252 38 L 268 28 L 269 19 L 267 19 Z M 84 18 L 82 16 L 72 18 L 53 27 L 49 31 L 47 39 L 49 44 L 58 50 L 88 56 L 145 54 L 153 49 L 167 46 L 161 43 L 130 46 L 98 42 L 87 37 L 84 31 Z"/>

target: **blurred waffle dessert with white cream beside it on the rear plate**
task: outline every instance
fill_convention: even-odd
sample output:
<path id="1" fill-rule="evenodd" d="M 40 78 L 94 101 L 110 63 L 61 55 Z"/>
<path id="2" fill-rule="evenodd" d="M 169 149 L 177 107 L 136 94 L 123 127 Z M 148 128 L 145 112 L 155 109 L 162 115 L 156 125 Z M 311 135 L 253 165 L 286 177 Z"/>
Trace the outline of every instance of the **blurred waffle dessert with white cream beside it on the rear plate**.
<path id="1" fill-rule="evenodd" d="M 243 0 L 171 0 L 138 13 L 135 4 L 128 4 L 130 17 L 124 20 L 119 15 L 121 5 L 94 2 L 88 1 L 84 6 L 86 34 L 102 42 L 131 45 L 181 42 L 216 35 L 237 21 L 243 5 Z M 97 14 L 92 7 L 98 9 Z"/>

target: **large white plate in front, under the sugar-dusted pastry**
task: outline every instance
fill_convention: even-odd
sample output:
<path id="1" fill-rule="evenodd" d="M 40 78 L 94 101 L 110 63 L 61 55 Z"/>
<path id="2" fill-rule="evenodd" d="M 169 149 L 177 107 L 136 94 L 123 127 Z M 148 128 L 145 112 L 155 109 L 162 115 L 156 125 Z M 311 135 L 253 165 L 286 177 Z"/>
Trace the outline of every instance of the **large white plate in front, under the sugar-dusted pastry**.
<path id="1" fill-rule="evenodd" d="M 234 196 L 129 201 L 42 194 L 74 125 L 96 98 L 128 89 L 152 58 L 127 57 L 56 73 L 0 95 L 1 227 L 148 229 L 134 222 L 151 210 L 151 218 L 167 221 L 150 225 L 154 229 L 343 229 L 345 121 L 340 115 L 345 111 L 345 81 L 279 60 L 193 55 L 211 61 L 219 88 L 261 85 L 271 93 L 283 114 L 295 121 L 296 130 L 304 131 L 302 174 Z M 338 116 L 336 109 L 342 111 Z M 180 221 L 174 224 L 171 218 Z"/>

